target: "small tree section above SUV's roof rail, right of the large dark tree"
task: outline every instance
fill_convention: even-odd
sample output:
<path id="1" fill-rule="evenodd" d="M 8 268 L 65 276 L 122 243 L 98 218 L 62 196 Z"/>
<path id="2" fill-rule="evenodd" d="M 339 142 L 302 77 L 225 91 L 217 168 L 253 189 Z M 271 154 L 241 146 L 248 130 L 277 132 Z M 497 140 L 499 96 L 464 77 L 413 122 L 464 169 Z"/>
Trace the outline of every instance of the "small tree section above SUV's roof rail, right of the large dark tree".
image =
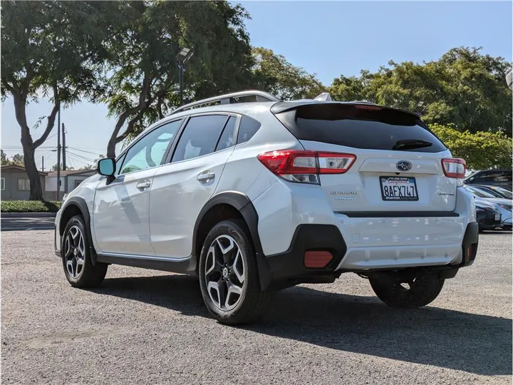
<path id="1" fill-rule="evenodd" d="M 293 66 L 282 55 L 271 49 L 253 48 L 254 77 L 257 88 L 281 100 L 315 98 L 326 91 L 316 75 Z"/>

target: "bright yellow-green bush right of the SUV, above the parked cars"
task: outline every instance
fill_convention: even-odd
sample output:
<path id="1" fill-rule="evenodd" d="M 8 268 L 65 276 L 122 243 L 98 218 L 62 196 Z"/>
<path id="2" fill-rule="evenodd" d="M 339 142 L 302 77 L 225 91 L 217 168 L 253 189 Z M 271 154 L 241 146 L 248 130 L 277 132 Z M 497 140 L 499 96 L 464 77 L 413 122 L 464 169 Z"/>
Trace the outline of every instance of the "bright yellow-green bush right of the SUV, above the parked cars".
<path id="1" fill-rule="evenodd" d="M 512 138 L 503 133 L 461 133 L 437 124 L 430 125 L 430 129 L 447 145 L 453 157 L 466 160 L 467 169 L 512 168 Z"/>

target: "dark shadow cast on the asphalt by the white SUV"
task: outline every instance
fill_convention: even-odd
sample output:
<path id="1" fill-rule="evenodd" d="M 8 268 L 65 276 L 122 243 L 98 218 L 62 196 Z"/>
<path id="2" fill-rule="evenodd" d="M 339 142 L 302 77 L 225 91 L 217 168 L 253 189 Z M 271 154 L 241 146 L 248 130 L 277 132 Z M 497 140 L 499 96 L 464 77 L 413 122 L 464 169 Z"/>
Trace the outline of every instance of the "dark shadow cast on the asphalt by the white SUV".
<path id="1" fill-rule="evenodd" d="M 93 291 L 208 317 L 192 277 L 111 278 Z M 392 309 L 375 297 L 293 287 L 275 294 L 262 322 L 243 328 L 473 374 L 512 374 L 512 320 L 500 317 L 437 307 Z"/>

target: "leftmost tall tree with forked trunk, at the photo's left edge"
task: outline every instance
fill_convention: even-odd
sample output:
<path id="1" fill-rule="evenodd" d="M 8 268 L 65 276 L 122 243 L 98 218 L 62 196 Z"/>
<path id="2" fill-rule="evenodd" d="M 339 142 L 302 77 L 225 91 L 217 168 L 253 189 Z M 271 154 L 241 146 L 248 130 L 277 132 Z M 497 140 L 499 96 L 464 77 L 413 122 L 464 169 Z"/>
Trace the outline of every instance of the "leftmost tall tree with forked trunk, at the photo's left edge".
<path id="1" fill-rule="evenodd" d="M 48 138 L 61 104 L 78 101 L 95 86 L 110 34 L 105 18 L 115 14 L 108 9 L 113 9 L 109 1 L 1 2 L 1 96 L 14 101 L 31 200 L 43 199 L 36 148 Z M 34 140 L 37 125 L 29 128 L 26 106 L 41 95 L 53 107 Z"/>

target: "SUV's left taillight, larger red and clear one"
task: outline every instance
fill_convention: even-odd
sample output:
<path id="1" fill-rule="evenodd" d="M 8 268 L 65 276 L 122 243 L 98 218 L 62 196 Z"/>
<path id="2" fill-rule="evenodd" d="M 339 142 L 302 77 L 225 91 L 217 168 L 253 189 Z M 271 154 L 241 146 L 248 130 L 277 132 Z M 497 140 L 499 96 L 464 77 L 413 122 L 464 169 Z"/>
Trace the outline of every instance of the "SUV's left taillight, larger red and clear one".
<path id="1" fill-rule="evenodd" d="M 356 155 L 305 150 L 278 150 L 257 156 L 272 173 L 291 182 L 319 183 L 319 174 L 346 173 Z"/>

